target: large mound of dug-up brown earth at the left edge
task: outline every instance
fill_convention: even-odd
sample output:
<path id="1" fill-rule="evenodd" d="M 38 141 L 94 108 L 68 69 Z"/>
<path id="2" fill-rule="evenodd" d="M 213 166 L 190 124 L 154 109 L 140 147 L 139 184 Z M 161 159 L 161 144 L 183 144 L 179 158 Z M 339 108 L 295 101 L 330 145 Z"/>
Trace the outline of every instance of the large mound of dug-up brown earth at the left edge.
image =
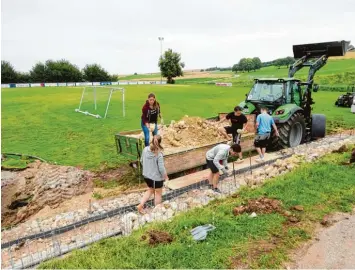
<path id="1" fill-rule="evenodd" d="M 88 189 L 91 189 L 91 181 L 87 172 L 33 162 L 2 188 L 2 225 L 15 225 L 45 206 L 56 208 L 64 200 L 84 194 Z"/>

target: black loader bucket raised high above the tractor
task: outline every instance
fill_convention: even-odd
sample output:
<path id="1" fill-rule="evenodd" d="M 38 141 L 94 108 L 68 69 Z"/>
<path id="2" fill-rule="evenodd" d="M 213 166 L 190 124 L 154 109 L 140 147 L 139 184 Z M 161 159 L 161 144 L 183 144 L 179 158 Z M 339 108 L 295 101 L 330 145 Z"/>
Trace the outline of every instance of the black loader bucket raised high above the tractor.
<path id="1" fill-rule="evenodd" d="M 350 41 L 331 41 L 322 43 L 311 43 L 293 45 L 293 55 L 297 58 L 302 58 L 305 55 L 309 57 L 320 57 L 322 55 L 343 56 L 350 45 Z"/>

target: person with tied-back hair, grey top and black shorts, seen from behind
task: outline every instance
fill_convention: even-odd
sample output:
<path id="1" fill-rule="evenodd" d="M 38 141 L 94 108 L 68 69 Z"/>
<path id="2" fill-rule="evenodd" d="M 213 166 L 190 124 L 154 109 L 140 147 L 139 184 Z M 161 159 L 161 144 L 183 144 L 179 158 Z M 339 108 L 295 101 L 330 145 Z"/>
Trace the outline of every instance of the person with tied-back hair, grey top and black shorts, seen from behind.
<path id="1" fill-rule="evenodd" d="M 160 135 L 154 136 L 150 146 L 143 149 L 141 156 L 143 177 L 149 189 L 144 193 L 140 204 L 137 206 L 138 212 L 141 214 L 144 214 L 144 204 L 153 194 L 155 206 L 162 201 L 163 184 L 165 180 L 169 180 L 162 151 Z"/>

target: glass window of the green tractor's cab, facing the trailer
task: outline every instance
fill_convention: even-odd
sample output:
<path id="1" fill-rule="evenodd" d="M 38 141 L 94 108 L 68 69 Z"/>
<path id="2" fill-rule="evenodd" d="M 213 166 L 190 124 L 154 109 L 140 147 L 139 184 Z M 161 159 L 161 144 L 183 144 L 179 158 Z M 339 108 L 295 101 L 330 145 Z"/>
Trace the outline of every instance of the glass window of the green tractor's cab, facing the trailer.
<path id="1" fill-rule="evenodd" d="M 283 97 L 284 83 L 257 82 L 248 94 L 247 100 L 274 102 Z"/>

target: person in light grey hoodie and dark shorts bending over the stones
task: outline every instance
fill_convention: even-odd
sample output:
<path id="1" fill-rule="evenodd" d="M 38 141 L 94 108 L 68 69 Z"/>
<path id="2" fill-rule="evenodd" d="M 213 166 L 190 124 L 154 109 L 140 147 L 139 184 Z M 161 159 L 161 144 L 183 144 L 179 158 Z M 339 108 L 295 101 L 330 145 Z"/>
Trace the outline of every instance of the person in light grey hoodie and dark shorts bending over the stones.
<path id="1" fill-rule="evenodd" d="M 207 167 L 210 168 L 211 173 L 208 176 L 208 182 L 210 187 L 215 192 L 221 192 L 218 188 L 219 171 L 223 174 L 228 172 L 228 157 L 236 156 L 242 151 L 239 144 L 218 144 L 206 153 Z M 222 163 L 222 164 L 221 164 Z"/>

